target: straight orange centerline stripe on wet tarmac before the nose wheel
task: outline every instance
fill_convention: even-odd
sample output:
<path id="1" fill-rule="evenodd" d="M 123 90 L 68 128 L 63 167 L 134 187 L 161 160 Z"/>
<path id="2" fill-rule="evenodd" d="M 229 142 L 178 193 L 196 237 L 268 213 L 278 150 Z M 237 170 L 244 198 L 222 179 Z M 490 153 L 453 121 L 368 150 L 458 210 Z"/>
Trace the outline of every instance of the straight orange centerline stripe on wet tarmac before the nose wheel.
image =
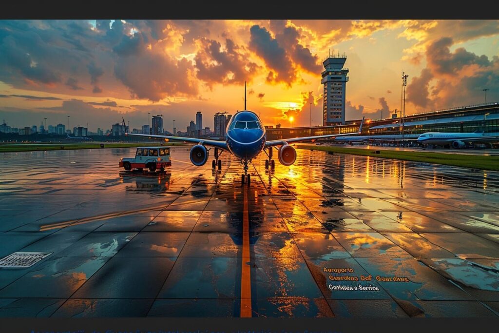
<path id="1" fill-rule="evenodd" d="M 241 260 L 241 318 L 251 317 L 250 272 L 250 219 L 248 213 L 248 188 L 243 185 L 243 257 Z"/>

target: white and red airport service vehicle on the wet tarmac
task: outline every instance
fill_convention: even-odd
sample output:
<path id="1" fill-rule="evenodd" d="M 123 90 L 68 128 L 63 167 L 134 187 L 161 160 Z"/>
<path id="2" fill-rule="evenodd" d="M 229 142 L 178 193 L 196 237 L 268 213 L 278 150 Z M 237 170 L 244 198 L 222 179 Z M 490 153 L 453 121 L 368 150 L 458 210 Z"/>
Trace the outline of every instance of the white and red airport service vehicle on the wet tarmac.
<path id="1" fill-rule="evenodd" d="M 138 147 L 135 157 L 120 159 L 120 168 L 126 171 L 132 169 L 139 171 L 149 169 L 151 172 L 158 169 L 165 171 L 165 168 L 171 165 L 170 148 L 165 147 Z"/>

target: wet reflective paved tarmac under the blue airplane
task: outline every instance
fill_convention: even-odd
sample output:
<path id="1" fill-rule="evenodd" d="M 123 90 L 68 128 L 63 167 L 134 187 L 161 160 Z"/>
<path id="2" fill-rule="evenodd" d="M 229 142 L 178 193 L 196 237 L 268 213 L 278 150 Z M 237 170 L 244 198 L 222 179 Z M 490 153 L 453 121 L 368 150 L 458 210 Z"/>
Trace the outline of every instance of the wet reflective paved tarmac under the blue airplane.
<path id="1" fill-rule="evenodd" d="M 165 173 L 0 155 L 0 317 L 499 316 L 499 173 L 298 150 Z"/>

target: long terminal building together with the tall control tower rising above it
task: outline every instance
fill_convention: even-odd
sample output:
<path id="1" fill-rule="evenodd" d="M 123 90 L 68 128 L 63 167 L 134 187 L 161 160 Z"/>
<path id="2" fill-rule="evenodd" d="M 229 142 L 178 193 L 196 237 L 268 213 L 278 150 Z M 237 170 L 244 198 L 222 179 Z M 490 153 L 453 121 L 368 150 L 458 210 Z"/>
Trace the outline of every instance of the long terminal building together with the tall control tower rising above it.
<path id="1" fill-rule="evenodd" d="M 288 128 L 265 126 L 267 140 L 357 132 L 361 120 L 345 120 L 345 92 L 349 72 L 348 68 L 343 68 L 345 62 L 346 55 L 344 54 L 329 55 L 322 62 L 325 68 L 321 73 L 321 83 L 324 85 L 322 126 Z M 366 119 L 360 135 L 400 135 L 401 137 L 407 135 L 407 137 L 414 138 L 425 132 L 471 133 L 475 131 L 499 132 L 499 102 L 433 110 L 405 117 L 395 113 L 385 119 Z"/>

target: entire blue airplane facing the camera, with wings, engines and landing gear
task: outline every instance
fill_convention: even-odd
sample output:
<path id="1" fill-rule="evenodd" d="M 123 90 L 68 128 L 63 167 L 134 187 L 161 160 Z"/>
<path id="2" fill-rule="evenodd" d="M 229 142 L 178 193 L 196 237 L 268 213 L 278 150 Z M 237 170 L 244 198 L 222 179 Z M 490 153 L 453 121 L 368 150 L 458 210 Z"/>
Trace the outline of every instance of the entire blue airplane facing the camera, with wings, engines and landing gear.
<path id="1" fill-rule="evenodd" d="M 123 119 L 123 124 L 125 124 L 125 119 Z M 357 133 L 350 134 L 360 134 L 362 131 L 362 124 L 364 118 L 360 122 L 359 131 Z M 125 126 L 126 128 L 126 126 Z M 211 146 L 215 148 L 215 159 L 212 161 L 212 169 L 222 169 L 222 161 L 219 160 L 222 152 L 226 151 L 233 154 L 235 157 L 241 160 L 244 165 L 244 174 L 241 175 L 241 183 L 247 183 L 250 186 L 250 175 L 248 174 L 248 165 L 251 160 L 258 156 L 262 151 L 267 155 L 268 159 L 265 161 L 265 169 L 268 169 L 269 165 L 274 168 L 274 160 L 272 160 L 272 149 L 278 147 L 277 156 L 279 162 L 282 165 L 290 166 L 296 161 L 296 150 L 290 144 L 304 141 L 315 142 L 317 139 L 331 138 L 339 136 L 340 134 L 330 134 L 330 135 L 317 135 L 317 136 L 306 136 L 306 137 L 296 137 L 289 139 L 279 139 L 279 140 L 269 140 L 266 139 L 265 126 L 261 122 L 260 118 L 253 111 L 247 110 L 246 108 L 246 82 L 245 82 L 245 109 L 236 112 L 236 114 L 231 118 L 227 124 L 227 134 L 224 141 L 221 140 L 210 140 L 204 138 L 187 138 L 179 136 L 170 135 L 152 135 L 152 134 L 134 134 L 125 133 L 125 135 L 130 136 L 143 136 L 148 138 L 160 138 L 168 140 L 183 141 L 185 143 L 192 143 L 194 146 L 191 148 L 189 157 L 192 164 L 196 166 L 202 166 L 208 161 L 208 152 L 211 149 L 207 149 L 206 146 Z M 349 134 L 341 134 L 349 135 Z M 221 152 L 219 153 L 219 150 Z"/>

